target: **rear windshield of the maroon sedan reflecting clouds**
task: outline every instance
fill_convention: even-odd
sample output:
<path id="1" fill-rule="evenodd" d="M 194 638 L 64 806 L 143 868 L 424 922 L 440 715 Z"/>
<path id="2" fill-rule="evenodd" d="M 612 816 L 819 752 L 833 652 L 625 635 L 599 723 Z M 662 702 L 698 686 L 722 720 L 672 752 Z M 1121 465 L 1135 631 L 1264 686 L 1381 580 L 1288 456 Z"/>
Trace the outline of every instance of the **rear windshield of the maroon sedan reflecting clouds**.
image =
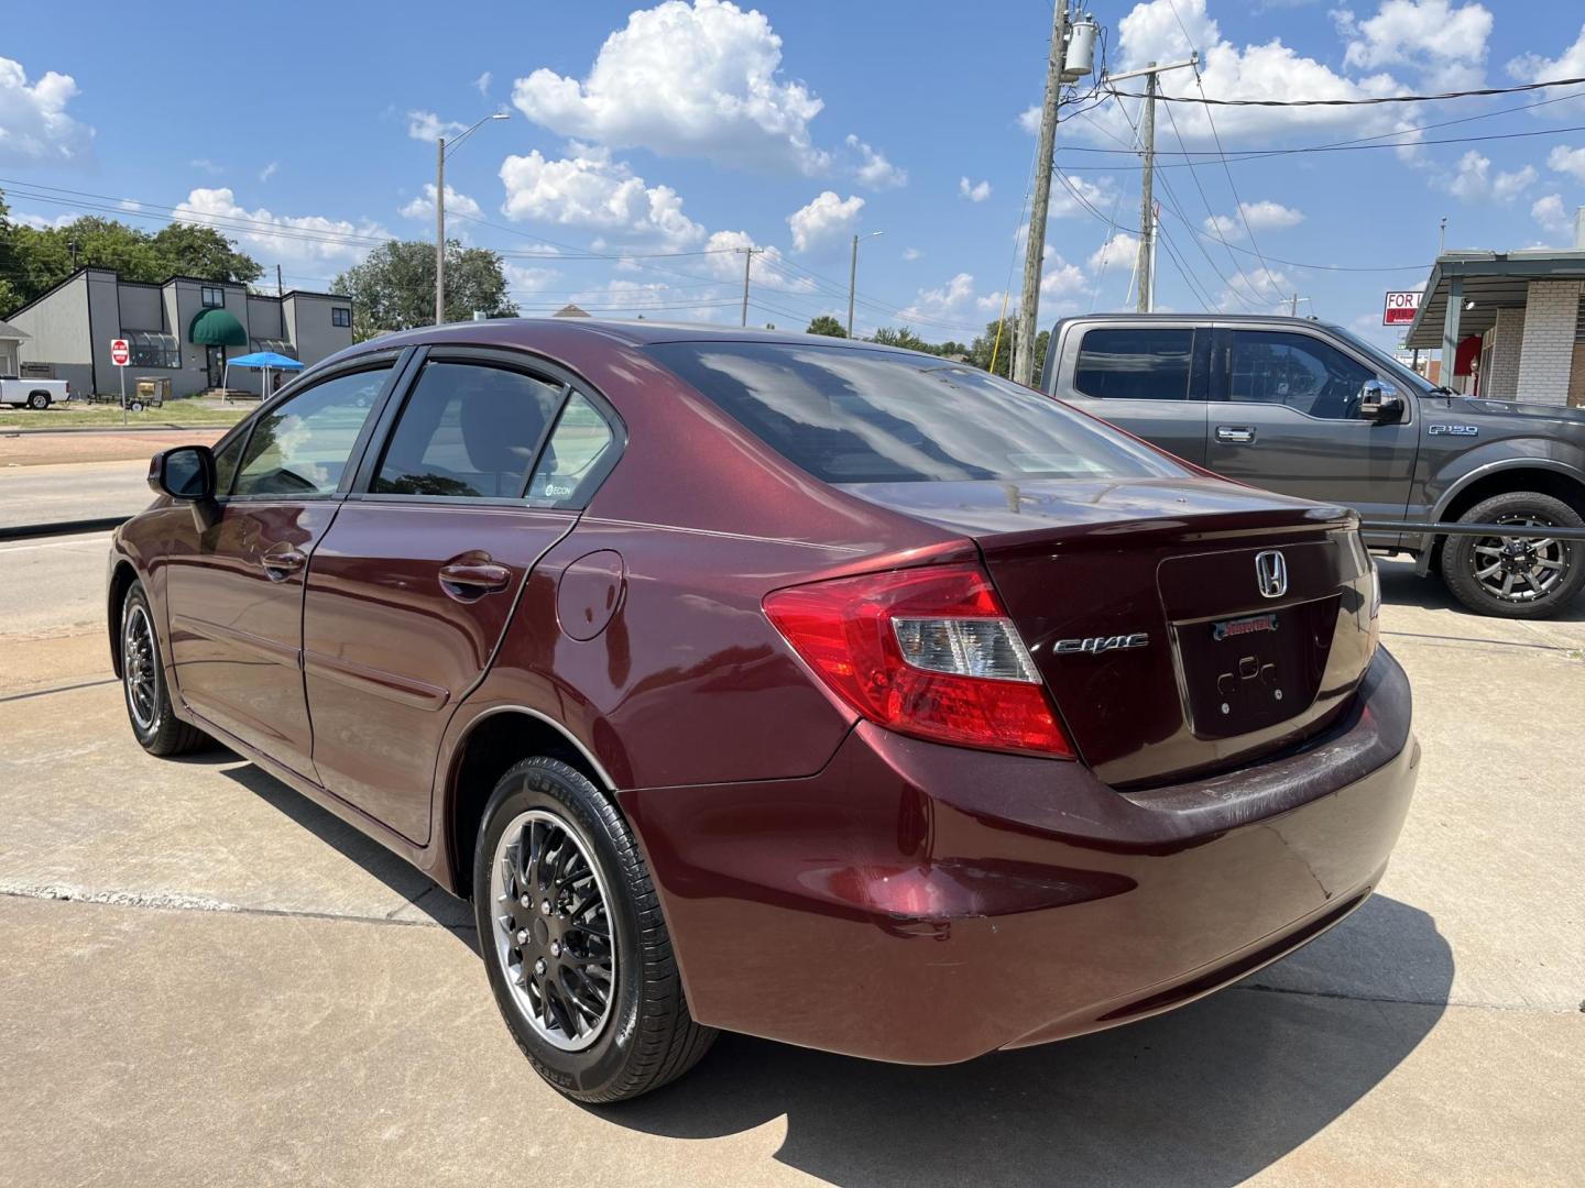
<path id="1" fill-rule="evenodd" d="M 655 356 L 827 483 L 1152 478 L 1184 469 L 1048 396 L 919 355 L 664 342 Z"/>

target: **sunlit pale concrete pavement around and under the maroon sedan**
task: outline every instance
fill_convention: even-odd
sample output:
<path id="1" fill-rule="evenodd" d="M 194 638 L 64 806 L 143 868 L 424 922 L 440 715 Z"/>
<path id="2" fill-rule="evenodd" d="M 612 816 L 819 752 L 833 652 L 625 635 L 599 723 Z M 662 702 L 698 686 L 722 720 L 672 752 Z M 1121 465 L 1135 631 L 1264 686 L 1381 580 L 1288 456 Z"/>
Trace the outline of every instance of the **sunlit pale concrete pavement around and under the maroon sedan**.
<path id="1" fill-rule="evenodd" d="M 941 1069 L 724 1036 L 582 1109 L 510 1042 L 463 904 L 230 752 L 138 751 L 103 540 L 55 543 L 0 550 L 43 608 L 0 604 L 0 1178 L 1585 1183 L 1585 604 L 1476 619 L 1387 565 L 1425 746 L 1403 841 L 1238 987 Z"/>

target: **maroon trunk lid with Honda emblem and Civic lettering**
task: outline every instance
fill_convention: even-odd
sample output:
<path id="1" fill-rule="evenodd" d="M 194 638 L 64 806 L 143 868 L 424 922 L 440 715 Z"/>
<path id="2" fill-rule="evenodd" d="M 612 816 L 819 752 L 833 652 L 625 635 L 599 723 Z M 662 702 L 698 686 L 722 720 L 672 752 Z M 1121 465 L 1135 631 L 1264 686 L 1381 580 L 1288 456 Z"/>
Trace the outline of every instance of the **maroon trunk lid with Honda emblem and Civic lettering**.
<path id="1" fill-rule="evenodd" d="M 1079 756 L 1114 786 L 1292 746 L 1374 649 L 1371 562 L 1339 507 L 1214 478 L 848 489 L 978 543 Z"/>

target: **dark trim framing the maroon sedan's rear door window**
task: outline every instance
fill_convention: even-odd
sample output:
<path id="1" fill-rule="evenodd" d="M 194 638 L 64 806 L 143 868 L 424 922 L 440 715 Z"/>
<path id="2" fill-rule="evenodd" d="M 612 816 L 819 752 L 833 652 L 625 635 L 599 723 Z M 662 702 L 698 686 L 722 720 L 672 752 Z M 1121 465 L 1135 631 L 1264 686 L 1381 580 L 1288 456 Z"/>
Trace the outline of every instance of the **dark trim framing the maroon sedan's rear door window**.
<path id="1" fill-rule="evenodd" d="M 358 464 L 357 474 L 352 477 L 350 486 L 346 491 L 349 501 L 360 504 L 428 504 L 434 507 L 515 507 L 520 512 L 566 512 L 566 510 L 582 510 L 588 507 L 590 501 L 594 499 L 596 493 L 610 477 L 610 472 L 621 461 L 623 455 L 628 451 L 628 425 L 621 420 L 621 413 L 612 407 L 612 402 L 605 399 L 594 385 L 588 383 L 577 372 L 563 367 L 558 363 L 536 355 L 529 350 L 512 350 L 506 347 L 476 347 L 469 344 L 452 344 L 437 342 L 428 347 L 409 347 L 412 356 L 403 367 L 401 385 L 396 391 L 385 399 L 385 406 L 376 420 L 371 440 L 363 451 L 363 459 Z M 396 421 L 407 407 L 407 401 L 418 386 L 418 377 L 423 374 L 423 366 L 426 363 L 463 363 L 474 366 L 491 366 L 501 367 L 504 371 L 517 371 L 529 379 L 539 380 L 540 383 L 558 383 L 561 385 L 561 401 L 556 404 L 555 412 L 545 420 L 545 429 L 540 434 L 539 444 L 534 448 L 534 459 L 528 467 L 528 475 L 525 477 L 525 488 L 533 482 L 534 472 L 539 469 L 539 463 L 544 459 L 545 447 L 550 445 L 550 439 L 556 432 L 556 426 L 561 425 L 561 413 L 566 410 L 572 393 L 577 391 L 583 399 L 586 399 L 594 410 L 605 418 L 605 423 L 612 431 L 612 445 L 605 451 L 607 459 L 591 472 L 594 477 L 593 483 L 588 483 L 588 494 L 582 499 L 531 499 L 526 494 L 518 499 L 502 499 L 499 496 L 428 496 L 428 494 L 395 494 L 387 491 L 374 491 L 374 477 L 379 474 L 380 464 L 385 461 L 385 450 L 390 445 L 391 434 L 396 428 Z"/>

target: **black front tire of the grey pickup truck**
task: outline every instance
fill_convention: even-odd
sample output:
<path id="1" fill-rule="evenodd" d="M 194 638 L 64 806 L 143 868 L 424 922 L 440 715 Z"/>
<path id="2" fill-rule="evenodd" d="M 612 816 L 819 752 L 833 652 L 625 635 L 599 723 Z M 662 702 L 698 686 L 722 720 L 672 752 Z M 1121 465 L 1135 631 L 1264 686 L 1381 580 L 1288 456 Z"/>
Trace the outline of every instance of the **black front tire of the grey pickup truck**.
<path id="1" fill-rule="evenodd" d="M 1463 524 L 1528 521 L 1553 527 L 1585 524 L 1572 507 L 1539 491 L 1509 491 L 1493 496 L 1471 507 L 1458 521 Z M 1442 580 L 1453 597 L 1477 615 L 1544 619 L 1568 607 L 1580 588 L 1585 588 L 1585 543 L 1556 540 L 1541 553 L 1530 551 L 1511 558 L 1499 553 L 1503 543 L 1501 537 L 1447 537 L 1442 543 Z M 1507 570 L 1491 572 L 1493 565 L 1518 570 L 1509 596 L 1495 588 L 1507 577 Z"/>

